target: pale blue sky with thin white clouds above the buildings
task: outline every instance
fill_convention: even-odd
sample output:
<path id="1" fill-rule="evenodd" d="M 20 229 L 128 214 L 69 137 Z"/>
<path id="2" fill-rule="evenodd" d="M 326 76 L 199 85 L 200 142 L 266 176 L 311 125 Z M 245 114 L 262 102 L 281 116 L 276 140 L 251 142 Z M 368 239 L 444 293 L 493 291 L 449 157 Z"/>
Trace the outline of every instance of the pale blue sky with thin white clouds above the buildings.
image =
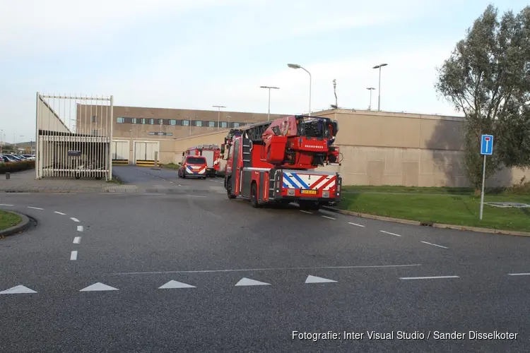
<path id="1" fill-rule="evenodd" d="M 437 95 L 436 68 L 489 2 L 0 0 L 0 130 L 35 138 L 37 91 L 266 113 L 259 86 L 272 85 L 271 113 L 307 114 L 335 104 L 335 79 L 339 107 L 367 109 L 373 87 L 377 109 L 382 63 L 381 110 L 461 115 Z"/>

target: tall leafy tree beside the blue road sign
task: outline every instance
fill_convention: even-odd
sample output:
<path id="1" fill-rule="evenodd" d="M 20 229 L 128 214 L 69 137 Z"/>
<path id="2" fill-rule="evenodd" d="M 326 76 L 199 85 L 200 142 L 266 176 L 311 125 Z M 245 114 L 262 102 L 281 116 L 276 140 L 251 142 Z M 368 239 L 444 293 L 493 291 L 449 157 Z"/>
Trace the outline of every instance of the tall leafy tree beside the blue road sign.
<path id="1" fill-rule="evenodd" d="M 530 167 L 530 6 L 500 20 L 489 5 L 438 69 L 435 85 L 464 113 L 464 165 L 476 189 L 482 182 L 480 136 L 495 136 L 486 177 L 506 167 Z"/>

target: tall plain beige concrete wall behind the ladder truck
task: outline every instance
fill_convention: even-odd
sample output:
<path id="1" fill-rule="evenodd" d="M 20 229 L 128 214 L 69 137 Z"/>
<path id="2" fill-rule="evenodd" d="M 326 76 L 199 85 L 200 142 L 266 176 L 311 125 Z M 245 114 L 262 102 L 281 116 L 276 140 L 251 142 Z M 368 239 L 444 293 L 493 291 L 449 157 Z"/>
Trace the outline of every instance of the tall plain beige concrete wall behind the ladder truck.
<path id="1" fill-rule="evenodd" d="M 462 164 L 462 120 L 455 116 L 335 109 L 314 113 L 336 119 L 344 185 L 469 186 Z M 180 162 L 182 152 L 201 143 L 223 143 L 228 129 L 165 141 L 160 162 Z M 488 186 L 509 186 L 530 172 L 505 169 Z"/>

